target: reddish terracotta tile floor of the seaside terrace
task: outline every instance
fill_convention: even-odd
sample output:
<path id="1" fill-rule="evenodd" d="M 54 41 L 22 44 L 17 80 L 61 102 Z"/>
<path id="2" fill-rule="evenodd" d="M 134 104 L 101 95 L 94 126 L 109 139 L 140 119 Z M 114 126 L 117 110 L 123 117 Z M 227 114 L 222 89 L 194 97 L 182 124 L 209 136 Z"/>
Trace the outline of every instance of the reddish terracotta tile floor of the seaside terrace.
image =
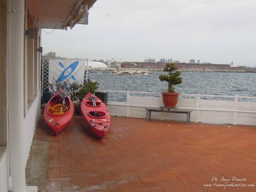
<path id="1" fill-rule="evenodd" d="M 99 140 L 81 116 L 59 136 L 41 116 L 34 140 L 50 142 L 47 190 L 41 191 L 256 191 L 252 126 L 113 116 L 111 130 Z M 214 186 L 226 183 L 236 187 Z"/>

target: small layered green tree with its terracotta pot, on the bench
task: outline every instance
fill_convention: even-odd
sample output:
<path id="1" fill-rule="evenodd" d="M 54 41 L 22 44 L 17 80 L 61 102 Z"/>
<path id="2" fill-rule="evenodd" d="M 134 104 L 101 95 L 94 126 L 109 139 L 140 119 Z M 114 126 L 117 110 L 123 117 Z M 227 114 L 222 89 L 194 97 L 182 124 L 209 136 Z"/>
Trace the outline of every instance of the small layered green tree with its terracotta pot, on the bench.
<path id="1" fill-rule="evenodd" d="M 159 76 L 160 81 L 168 83 L 168 92 L 162 92 L 163 104 L 165 107 L 175 107 L 178 102 L 179 93 L 175 92 L 173 85 L 182 83 L 181 71 L 177 71 L 175 63 L 166 63 L 163 71 L 168 72 L 168 75 L 161 74 Z"/>

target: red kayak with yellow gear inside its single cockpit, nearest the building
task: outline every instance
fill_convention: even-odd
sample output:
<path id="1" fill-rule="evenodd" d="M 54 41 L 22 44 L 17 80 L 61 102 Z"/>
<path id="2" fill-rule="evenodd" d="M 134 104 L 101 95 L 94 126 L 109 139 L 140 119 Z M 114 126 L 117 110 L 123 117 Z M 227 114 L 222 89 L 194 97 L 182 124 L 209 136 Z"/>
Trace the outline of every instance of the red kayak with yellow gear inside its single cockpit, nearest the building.
<path id="1" fill-rule="evenodd" d="M 60 90 L 51 97 L 45 106 L 46 124 L 58 135 L 71 121 L 74 104 L 64 91 Z"/>

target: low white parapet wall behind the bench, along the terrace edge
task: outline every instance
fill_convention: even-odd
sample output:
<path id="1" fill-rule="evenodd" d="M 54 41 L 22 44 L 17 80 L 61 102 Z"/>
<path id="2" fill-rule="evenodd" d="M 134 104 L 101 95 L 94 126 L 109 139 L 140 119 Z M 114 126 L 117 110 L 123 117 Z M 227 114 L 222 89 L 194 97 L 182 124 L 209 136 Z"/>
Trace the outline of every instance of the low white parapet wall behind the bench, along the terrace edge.
<path id="1" fill-rule="evenodd" d="M 146 118 L 146 107 L 163 106 L 161 97 L 128 96 L 128 102 L 109 101 L 111 115 Z M 191 110 L 191 121 L 211 124 L 256 125 L 256 103 L 178 99 L 178 109 Z M 152 119 L 186 121 L 186 114 L 152 112 Z"/>

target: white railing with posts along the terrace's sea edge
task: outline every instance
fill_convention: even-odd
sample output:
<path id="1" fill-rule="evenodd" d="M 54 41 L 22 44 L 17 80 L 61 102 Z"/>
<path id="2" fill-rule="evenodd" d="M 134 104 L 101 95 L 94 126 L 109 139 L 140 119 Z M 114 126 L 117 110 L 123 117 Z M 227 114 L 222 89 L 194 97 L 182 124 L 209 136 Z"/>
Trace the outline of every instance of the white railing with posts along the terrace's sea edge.
<path id="1" fill-rule="evenodd" d="M 110 101 L 108 104 L 110 106 L 114 105 L 114 106 L 123 106 L 126 108 L 126 116 L 129 117 L 131 116 L 131 107 L 160 107 L 161 106 L 161 103 L 160 103 L 160 98 L 158 98 L 159 100 L 157 100 L 157 102 L 155 103 L 154 101 L 156 100 L 153 100 L 154 97 L 151 97 L 152 98 L 152 102 L 149 102 L 147 104 L 141 104 L 139 103 L 139 101 L 143 101 L 143 98 L 145 98 L 145 96 L 138 96 L 136 98 L 141 98 L 141 100 L 138 99 L 138 102 L 134 103 L 134 100 L 133 102 L 131 102 L 131 100 L 133 99 L 134 96 L 131 96 L 132 93 L 139 93 L 139 94 L 147 94 L 147 95 L 160 95 L 161 97 L 161 93 L 160 92 L 140 92 L 140 91 L 114 91 L 114 90 L 104 90 L 104 92 L 109 92 L 109 93 L 125 93 L 126 94 L 126 101 L 123 101 L 123 102 L 118 102 L 118 101 Z M 255 114 L 256 115 L 256 108 L 254 107 L 250 107 L 250 104 L 253 104 L 256 106 L 256 102 L 252 102 L 252 101 L 249 101 L 247 103 L 249 107 L 247 107 L 247 109 L 239 109 L 239 104 L 241 105 L 241 102 L 239 101 L 239 99 L 249 99 L 249 100 L 256 100 L 256 97 L 250 97 L 250 96 L 238 96 L 238 95 L 235 95 L 235 96 L 226 96 L 226 95 L 200 95 L 200 94 L 180 94 L 181 98 L 182 97 L 185 97 L 185 99 L 183 101 L 189 101 L 189 99 L 186 100 L 186 97 L 192 97 L 192 98 L 195 98 L 195 99 L 192 99 L 194 100 L 194 105 L 184 105 L 182 102 L 177 105 L 177 108 L 178 109 L 183 109 L 183 110 L 192 110 L 194 111 L 194 114 L 195 114 L 195 118 L 194 118 L 194 121 L 195 122 L 199 122 L 201 121 L 201 118 L 200 118 L 200 112 L 201 111 L 211 111 L 211 112 L 231 112 L 233 114 L 233 121 L 232 123 L 233 124 L 238 124 L 238 113 L 243 113 L 243 114 Z M 204 97 L 204 99 L 202 100 L 202 97 Z M 210 98 L 209 100 L 206 100 L 206 98 Z M 211 100 L 211 98 L 229 98 L 231 100 Z M 147 97 L 147 98 L 150 98 L 150 97 Z M 183 99 L 183 98 L 182 98 Z M 190 99 L 191 100 L 191 99 Z M 232 101 L 233 100 L 233 101 Z M 218 107 L 218 106 L 212 106 L 211 105 L 208 105 L 205 104 L 204 101 L 209 101 L 209 102 L 212 102 L 212 104 L 214 105 L 214 103 L 216 102 L 223 102 L 223 106 L 224 107 Z M 202 104 L 202 102 L 204 102 L 204 104 Z M 231 102 L 231 104 L 230 104 Z M 201 106 L 201 104 L 203 106 Z M 218 103 L 217 103 L 218 104 Z M 252 106 L 253 106 L 252 105 Z M 246 108 L 246 107 L 245 107 Z M 201 121 L 203 122 L 203 121 Z M 226 123 L 226 122 L 223 122 L 223 123 Z"/>

